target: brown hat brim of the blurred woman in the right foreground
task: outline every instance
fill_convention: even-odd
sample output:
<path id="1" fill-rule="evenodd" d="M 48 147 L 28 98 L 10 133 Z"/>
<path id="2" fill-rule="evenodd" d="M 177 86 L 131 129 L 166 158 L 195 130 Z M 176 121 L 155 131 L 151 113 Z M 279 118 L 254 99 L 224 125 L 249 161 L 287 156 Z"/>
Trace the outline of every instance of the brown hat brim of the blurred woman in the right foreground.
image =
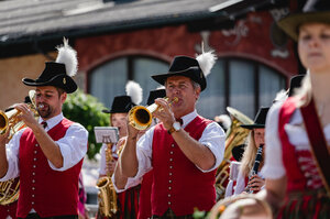
<path id="1" fill-rule="evenodd" d="M 330 12 L 307 12 L 290 14 L 277 22 L 277 25 L 293 40 L 298 40 L 298 28 L 302 23 L 330 23 Z"/>

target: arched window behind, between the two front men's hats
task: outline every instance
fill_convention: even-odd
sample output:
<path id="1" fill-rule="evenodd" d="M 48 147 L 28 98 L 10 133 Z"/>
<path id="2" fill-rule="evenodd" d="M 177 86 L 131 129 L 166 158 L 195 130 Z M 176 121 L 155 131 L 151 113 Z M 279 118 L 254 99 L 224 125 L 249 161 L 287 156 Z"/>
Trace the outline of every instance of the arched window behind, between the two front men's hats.
<path id="1" fill-rule="evenodd" d="M 134 80 L 143 88 L 143 101 L 146 103 L 148 91 L 160 85 L 151 75 L 166 73 L 168 63 L 147 56 L 124 56 L 111 59 L 89 73 L 89 94 L 110 108 L 116 96 L 125 94 L 128 80 Z"/>

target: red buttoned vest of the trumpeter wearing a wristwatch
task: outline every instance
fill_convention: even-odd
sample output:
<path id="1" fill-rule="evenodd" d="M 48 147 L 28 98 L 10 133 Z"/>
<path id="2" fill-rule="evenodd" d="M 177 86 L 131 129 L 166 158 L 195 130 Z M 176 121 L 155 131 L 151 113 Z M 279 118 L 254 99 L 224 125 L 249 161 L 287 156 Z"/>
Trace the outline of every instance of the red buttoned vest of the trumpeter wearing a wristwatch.
<path id="1" fill-rule="evenodd" d="M 185 131 L 199 140 L 212 121 L 196 117 Z M 153 136 L 152 212 L 162 216 L 170 208 L 176 216 L 191 215 L 194 208 L 210 210 L 216 204 L 216 169 L 202 173 L 180 151 L 162 123 Z"/>

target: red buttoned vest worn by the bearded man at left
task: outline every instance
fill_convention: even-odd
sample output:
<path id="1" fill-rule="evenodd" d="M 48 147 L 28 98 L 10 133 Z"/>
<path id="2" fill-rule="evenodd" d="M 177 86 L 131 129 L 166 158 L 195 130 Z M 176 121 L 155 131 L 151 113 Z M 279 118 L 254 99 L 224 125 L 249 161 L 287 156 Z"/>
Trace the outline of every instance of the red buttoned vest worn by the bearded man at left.
<path id="1" fill-rule="evenodd" d="M 48 131 L 50 136 L 62 139 L 72 121 L 63 119 Z M 25 218 L 33 208 L 41 217 L 78 215 L 78 179 L 82 160 L 72 168 L 58 172 L 50 167 L 35 136 L 28 128 L 20 141 L 20 197 L 18 217 Z"/>

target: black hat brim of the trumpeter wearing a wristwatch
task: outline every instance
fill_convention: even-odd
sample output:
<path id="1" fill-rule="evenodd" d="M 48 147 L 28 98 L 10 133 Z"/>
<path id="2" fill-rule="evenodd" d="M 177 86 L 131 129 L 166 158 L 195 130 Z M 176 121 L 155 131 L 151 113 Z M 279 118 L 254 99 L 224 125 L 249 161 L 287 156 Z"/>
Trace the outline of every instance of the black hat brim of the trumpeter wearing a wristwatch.
<path id="1" fill-rule="evenodd" d="M 202 74 L 202 72 L 198 67 L 190 67 L 190 68 L 185 69 L 185 70 L 168 72 L 168 73 L 165 73 L 165 74 L 152 75 L 151 77 L 154 80 L 156 80 L 157 83 L 160 83 L 161 85 L 165 85 L 165 81 L 168 77 L 185 76 L 185 77 L 190 78 L 195 83 L 199 84 L 200 85 L 200 90 L 204 90 L 207 86 L 207 83 L 206 83 L 206 78 L 204 77 L 204 75 L 201 75 L 200 78 L 198 78 L 198 76 L 200 74 Z"/>

